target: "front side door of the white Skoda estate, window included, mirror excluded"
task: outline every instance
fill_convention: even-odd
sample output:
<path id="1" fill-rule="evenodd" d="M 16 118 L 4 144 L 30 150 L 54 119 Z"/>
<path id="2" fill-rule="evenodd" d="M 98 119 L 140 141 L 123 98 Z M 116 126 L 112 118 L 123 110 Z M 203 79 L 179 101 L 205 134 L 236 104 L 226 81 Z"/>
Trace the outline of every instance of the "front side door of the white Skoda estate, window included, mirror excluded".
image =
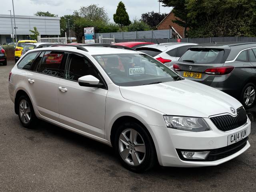
<path id="1" fill-rule="evenodd" d="M 104 87 L 80 86 L 78 78 L 95 76 Z M 70 53 L 58 84 L 60 122 L 104 138 L 107 86 L 94 64 L 85 56 Z"/>

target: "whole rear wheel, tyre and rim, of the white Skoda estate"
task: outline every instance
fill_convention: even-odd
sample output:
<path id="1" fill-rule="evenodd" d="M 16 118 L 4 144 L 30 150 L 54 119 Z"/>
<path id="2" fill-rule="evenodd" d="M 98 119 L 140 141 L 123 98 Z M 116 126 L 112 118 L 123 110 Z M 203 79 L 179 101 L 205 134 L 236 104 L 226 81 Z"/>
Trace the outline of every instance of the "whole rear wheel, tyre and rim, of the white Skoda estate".
<path id="1" fill-rule="evenodd" d="M 37 118 L 30 99 L 27 96 L 20 96 L 16 106 L 18 108 L 18 116 L 22 125 L 26 128 L 34 128 Z"/>

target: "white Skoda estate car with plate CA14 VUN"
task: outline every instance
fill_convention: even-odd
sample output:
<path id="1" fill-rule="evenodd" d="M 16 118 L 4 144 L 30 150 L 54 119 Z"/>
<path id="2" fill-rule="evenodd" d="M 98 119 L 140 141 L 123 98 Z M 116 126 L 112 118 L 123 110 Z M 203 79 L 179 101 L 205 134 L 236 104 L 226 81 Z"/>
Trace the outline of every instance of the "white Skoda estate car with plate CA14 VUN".
<path id="1" fill-rule="evenodd" d="M 41 119 L 113 146 L 135 172 L 214 166 L 250 147 L 238 100 L 129 48 L 30 50 L 11 70 L 9 92 L 23 126 Z"/>

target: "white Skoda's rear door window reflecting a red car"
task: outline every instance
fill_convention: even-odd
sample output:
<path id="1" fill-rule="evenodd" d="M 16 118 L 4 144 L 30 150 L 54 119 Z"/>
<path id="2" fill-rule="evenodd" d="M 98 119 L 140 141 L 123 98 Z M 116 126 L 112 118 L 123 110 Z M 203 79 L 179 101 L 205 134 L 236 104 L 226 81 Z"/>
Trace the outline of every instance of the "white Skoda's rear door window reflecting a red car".
<path id="1" fill-rule="evenodd" d="M 59 51 L 47 51 L 44 53 L 38 72 L 61 76 L 60 66 L 64 64 L 66 53 Z"/>

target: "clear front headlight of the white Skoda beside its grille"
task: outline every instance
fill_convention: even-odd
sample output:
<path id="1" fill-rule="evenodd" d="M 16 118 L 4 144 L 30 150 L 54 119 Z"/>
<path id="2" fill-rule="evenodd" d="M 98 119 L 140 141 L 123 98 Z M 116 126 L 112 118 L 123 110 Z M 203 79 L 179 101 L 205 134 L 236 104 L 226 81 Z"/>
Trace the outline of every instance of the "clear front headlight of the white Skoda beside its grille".
<path id="1" fill-rule="evenodd" d="M 208 131 L 209 126 L 206 124 L 203 118 L 198 117 L 182 117 L 182 116 L 170 116 L 164 115 L 164 121 L 168 128 L 174 128 L 185 131 Z"/>

